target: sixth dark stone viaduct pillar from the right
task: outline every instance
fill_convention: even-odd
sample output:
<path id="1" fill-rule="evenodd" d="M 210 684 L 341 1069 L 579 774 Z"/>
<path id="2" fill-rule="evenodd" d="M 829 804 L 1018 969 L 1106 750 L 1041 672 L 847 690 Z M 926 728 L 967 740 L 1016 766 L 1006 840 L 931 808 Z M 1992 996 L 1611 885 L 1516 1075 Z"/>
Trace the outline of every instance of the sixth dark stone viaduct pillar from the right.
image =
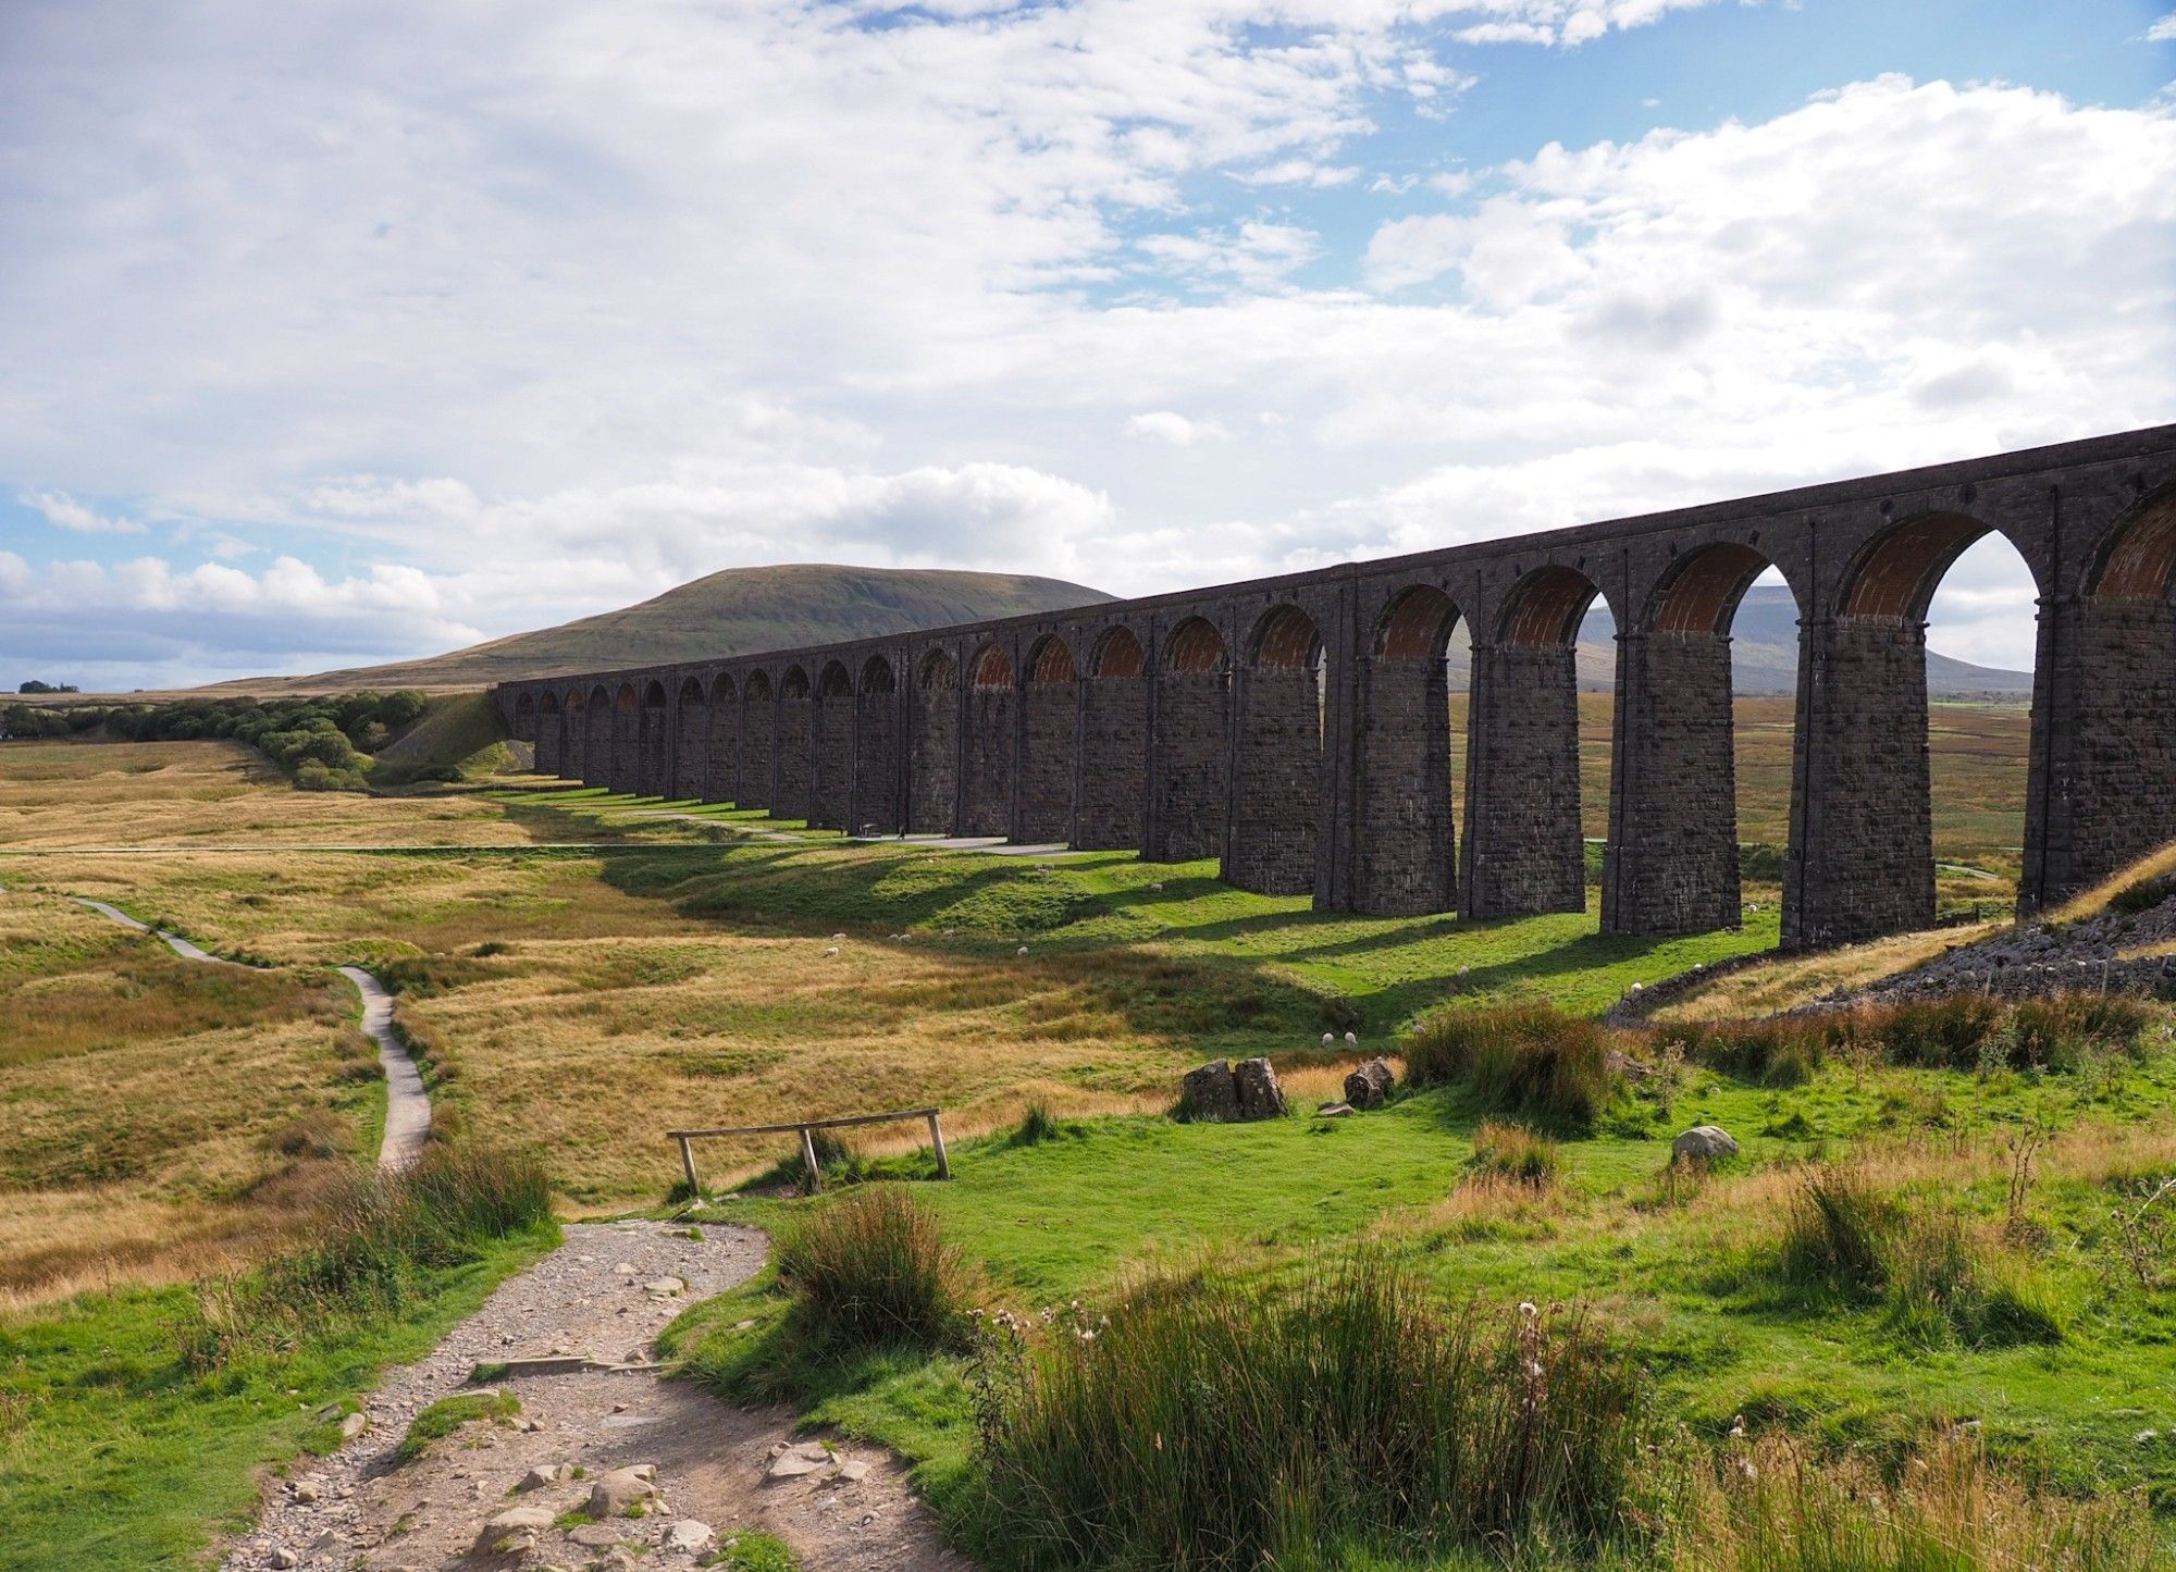
<path id="1" fill-rule="evenodd" d="M 1227 882 L 1256 895 L 1310 895 L 1323 810 L 1323 721 L 1314 666 L 1238 673 Z"/>

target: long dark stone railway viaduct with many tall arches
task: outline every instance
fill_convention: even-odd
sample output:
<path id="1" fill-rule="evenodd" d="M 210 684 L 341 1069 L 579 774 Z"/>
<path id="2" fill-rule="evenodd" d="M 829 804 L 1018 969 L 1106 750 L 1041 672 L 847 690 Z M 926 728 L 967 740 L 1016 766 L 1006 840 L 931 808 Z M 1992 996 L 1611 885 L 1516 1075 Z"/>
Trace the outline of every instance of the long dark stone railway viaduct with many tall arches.
<path id="1" fill-rule="evenodd" d="M 1800 610 L 1786 945 L 1934 919 L 1926 610 L 2039 588 L 2019 906 L 2176 838 L 2176 427 L 1184 594 L 498 688 L 537 769 L 873 836 L 1001 836 L 1323 910 L 1582 910 L 1573 638 L 1617 618 L 1602 925 L 1739 923 L 1730 623 Z M 1445 651 L 1473 644 L 1464 823 Z"/>

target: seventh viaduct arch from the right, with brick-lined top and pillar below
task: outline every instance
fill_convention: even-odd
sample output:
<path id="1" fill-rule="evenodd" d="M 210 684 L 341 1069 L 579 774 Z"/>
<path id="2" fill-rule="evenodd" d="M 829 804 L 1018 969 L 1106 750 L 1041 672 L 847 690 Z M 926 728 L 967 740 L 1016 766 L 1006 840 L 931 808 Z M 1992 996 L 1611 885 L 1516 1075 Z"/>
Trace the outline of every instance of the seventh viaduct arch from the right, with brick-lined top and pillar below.
<path id="1" fill-rule="evenodd" d="M 1153 727 L 1153 862 L 1214 858 L 1232 810 L 1232 651 L 1206 616 L 1164 638 Z"/>

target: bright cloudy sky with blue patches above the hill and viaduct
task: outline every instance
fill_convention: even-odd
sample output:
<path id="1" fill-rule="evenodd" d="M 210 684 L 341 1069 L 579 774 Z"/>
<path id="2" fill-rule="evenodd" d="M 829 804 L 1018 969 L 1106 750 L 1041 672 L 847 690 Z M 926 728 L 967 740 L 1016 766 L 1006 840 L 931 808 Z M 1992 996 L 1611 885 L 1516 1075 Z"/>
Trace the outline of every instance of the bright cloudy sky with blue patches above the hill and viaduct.
<path id="1" fill-rule="evenodd" d="M 2167 4 L 9 0 L 0 681 L 2176 420 Z M 2030 664 L 2006 546 L 1934 642 Z"/>

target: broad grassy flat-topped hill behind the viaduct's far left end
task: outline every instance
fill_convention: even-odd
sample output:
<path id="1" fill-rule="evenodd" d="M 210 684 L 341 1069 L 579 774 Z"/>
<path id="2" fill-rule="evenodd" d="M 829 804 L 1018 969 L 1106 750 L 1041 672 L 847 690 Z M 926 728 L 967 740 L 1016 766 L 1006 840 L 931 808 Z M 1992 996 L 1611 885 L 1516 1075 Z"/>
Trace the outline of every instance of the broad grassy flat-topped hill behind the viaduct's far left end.
<path id="1" fill-rule="evenodd" d="M 1060 612 L 1110 601 L 1064 579 L 940 568 L 790 564 L 727 568 L 618 612 L 511 634 L 429 660 L 246 677 L 200 692 L 355 692 L 359 688 L 483 688 L 609 666 L 749 655 L 796 644 L 879 638 L 951 623 Z"/>

